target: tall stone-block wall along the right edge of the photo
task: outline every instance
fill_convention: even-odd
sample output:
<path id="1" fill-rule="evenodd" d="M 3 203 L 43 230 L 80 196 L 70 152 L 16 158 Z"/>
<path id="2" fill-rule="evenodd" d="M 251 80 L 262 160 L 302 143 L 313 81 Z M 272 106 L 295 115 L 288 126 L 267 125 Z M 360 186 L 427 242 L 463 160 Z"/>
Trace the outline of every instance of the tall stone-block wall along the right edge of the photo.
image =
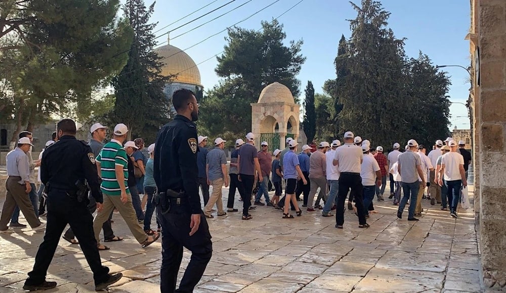
<path id="1" fill-rule="evenodd" d="M 506 1 L 471 0 L 475 213 L 485 285 L 506 285 Z M 458 220 L 457 220 L 458 221 Z"/>

